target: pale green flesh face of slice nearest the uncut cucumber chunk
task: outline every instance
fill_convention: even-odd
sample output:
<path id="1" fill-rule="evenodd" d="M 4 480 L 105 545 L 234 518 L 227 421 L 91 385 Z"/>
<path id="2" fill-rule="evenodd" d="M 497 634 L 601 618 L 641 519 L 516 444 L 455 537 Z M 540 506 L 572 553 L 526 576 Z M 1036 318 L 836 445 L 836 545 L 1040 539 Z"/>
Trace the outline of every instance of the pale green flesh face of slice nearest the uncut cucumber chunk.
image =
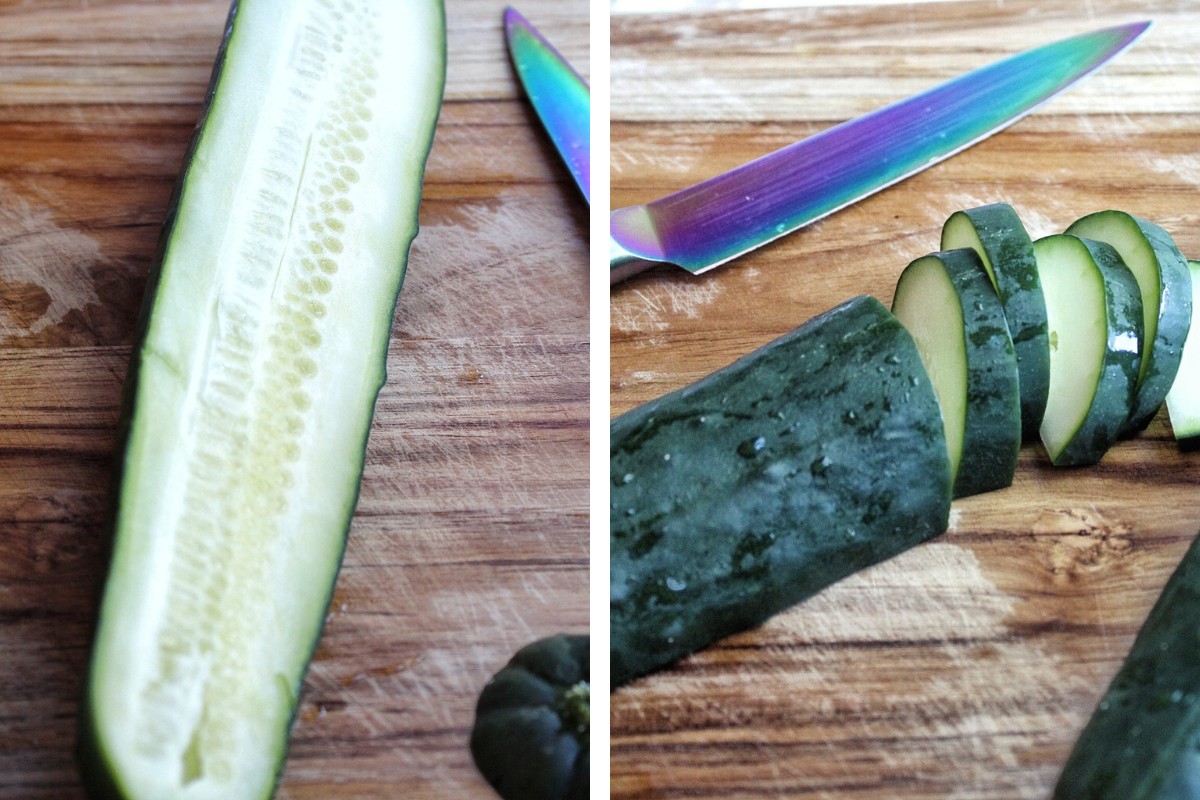
<path id="1" fill-rule="evenodd" d="M 936 258 L 911 264 L 896 287 L 892 313 L 904 323 L 929 373 L 946 428 L 950 483 L 962 461 L 967 419 L 967 350 L 962 306 L 946 269 Z"/>

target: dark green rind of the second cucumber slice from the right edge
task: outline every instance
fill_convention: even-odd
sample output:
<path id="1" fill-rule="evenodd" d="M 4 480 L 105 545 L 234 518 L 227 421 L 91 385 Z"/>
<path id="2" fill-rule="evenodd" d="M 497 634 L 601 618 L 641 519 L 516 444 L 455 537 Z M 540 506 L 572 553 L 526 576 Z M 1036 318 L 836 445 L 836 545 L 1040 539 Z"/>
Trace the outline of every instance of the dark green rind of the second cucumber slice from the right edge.
<path id="1" fill-rule="evenodd" d="M 1147 362 L 1141 371 L 1134 407 L 1121 432 L 1122 435 L 1133 435 L 1154 419 L 1175 381 L 1175 373 L 1183 356 L 1183 342 L 1192 325 L 1192 275 L 1187 259 L 1180 253 L 1171 235 L 1162 227 L 1132 213 L 1098 211 L 1073 222 L 1067 233 L 1098 239 L 1097 228 L 1103 224 L 1100 221 L 1114 213 L 1129 217 L 1150 241 L 1158 257 L 1162 281 L 1158 330 L 1154 341 L 1142 345 L 1142 357 Z"/>

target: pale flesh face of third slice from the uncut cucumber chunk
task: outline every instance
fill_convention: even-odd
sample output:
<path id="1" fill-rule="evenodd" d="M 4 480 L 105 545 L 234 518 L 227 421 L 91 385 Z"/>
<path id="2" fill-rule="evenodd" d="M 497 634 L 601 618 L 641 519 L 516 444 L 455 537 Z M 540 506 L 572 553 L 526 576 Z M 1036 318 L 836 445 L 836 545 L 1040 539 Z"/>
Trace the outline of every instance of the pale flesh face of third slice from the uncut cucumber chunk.
<path id="1" fill-rule="evenodd" d="M 1104 277 L 1068 236 L 1033 242 L 1050 331 L 1050 393 L 1042 441 L 1055 459 L 1079 431 L 1100 381 L 1108 343 Z"/>

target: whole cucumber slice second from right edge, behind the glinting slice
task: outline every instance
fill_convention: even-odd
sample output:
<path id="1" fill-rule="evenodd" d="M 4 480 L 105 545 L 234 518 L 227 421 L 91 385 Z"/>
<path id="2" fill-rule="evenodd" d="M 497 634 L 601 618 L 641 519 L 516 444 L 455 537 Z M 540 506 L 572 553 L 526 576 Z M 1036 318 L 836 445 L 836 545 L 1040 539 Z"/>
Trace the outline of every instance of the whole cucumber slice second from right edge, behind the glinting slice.
<path id="1" fill-rule="evenodd" d="M 1192 277 L 1170 234 L 1124 211 L 1098 211 L 1067 233 L 1111 245 L 1133 270 L 1141 291 L 1142 344 L 1138 395 L 1122 433 L 1141 431 L 1158 413 L 1183 355 L 1192 325 Z"/>

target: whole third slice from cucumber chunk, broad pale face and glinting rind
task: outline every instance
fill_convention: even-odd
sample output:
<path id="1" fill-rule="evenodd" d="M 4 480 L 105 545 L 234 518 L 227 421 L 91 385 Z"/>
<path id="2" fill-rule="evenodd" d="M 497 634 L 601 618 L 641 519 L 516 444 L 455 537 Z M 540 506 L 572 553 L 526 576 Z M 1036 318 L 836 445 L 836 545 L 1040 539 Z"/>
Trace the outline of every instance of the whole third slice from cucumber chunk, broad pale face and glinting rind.
<path id="1" fill-rule="evenodd" d="M 1138 282 L 1103 242 L 1056 234 L 1033 249 L 1050 325 L 1042 443 L 1055 464 L 1094 464 L 1133 408 L 1142 338 Z"/>

